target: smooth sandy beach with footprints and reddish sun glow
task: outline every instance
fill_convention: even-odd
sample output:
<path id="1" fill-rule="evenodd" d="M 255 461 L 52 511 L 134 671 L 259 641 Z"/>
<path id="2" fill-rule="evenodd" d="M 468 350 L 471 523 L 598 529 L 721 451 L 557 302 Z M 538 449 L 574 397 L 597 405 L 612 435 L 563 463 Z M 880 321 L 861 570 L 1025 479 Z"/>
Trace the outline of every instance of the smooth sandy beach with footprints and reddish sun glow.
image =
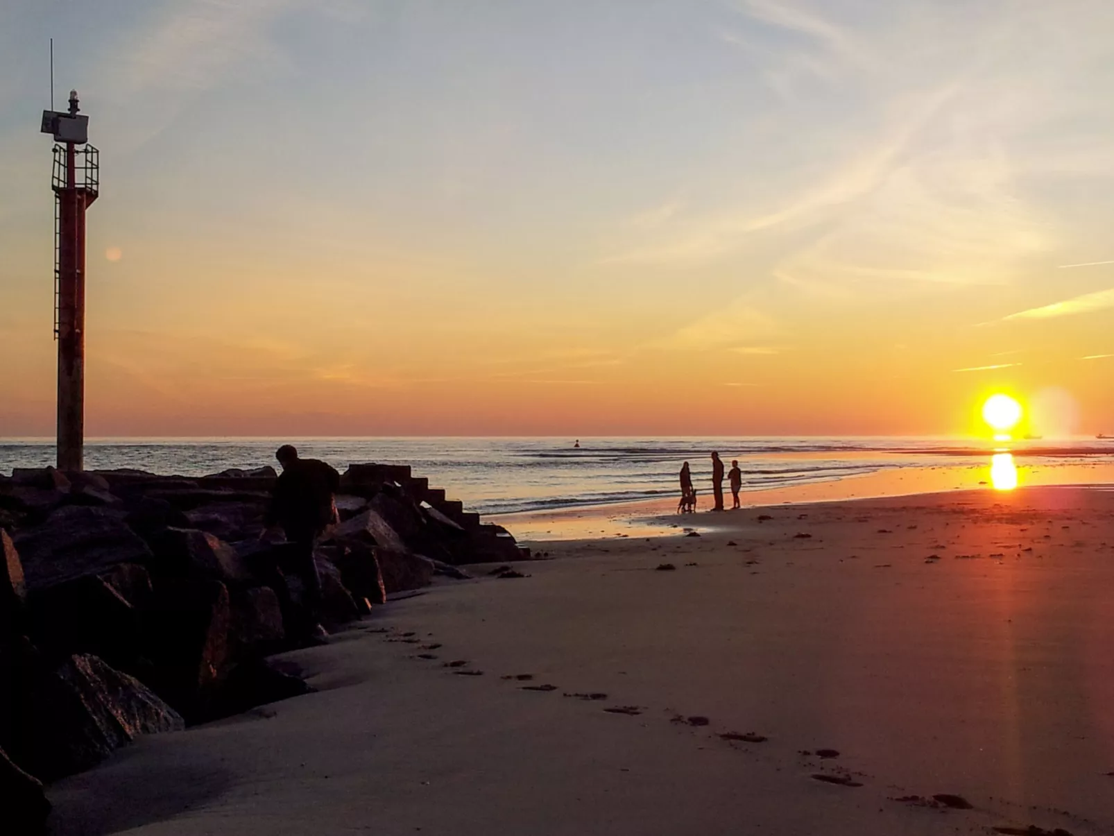
<path id="1" fill-rule="evenodd" d="M 140 739 L 53 832 L 1114 832 L 1114 490 L 656 525 L 284 655 L 317 693 Z"/>

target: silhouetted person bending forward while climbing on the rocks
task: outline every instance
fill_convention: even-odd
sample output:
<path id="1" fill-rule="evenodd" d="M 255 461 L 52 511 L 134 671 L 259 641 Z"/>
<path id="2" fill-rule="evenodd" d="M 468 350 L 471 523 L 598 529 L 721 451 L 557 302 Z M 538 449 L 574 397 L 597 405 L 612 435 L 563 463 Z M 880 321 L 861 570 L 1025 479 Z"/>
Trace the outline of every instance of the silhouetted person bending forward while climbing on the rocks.
<path id="1" fill-rule="evenodd" d="M 319 616 L 321 605 L 321 577 L 313 560 L 313 546 L 328 526 L 336 522 L 334 495 L 340 488 L 341 475 L 324 461 L 315 458 L 299 458 L 297 450 L 284 444 L 275 453 L 282 465 L 282 474 L 275 483 L 264 524 L 264 537 L 275 527 L 281 527 L 290 546 L 290 564 L 305 586 L 305 605 L 313 621 Z M 311 628 L 311 633 L 321 636 L 324 629 L 320 624 Z"/>

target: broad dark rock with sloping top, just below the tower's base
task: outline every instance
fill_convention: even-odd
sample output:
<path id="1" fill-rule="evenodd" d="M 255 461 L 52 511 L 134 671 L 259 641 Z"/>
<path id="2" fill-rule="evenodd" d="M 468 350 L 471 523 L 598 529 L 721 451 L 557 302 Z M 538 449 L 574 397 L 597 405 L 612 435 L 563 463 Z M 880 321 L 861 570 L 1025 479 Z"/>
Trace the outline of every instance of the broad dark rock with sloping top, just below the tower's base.
<path id="1" fill-rule="evenodd" d="M 28 591 L 152 557 L 143 538 L 107 508 L 59 508 L 42 524 L 20 531 L 14 543 Z"/>

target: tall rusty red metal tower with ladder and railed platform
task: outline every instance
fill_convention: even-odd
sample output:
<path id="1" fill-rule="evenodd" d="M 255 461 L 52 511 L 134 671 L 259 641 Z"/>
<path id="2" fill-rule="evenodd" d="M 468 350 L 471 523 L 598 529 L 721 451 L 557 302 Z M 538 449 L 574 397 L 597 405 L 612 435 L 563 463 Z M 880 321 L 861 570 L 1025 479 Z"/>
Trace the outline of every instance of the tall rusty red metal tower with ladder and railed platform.
<path id="1" fill-rule="evenodd" d="M 85 445 L 85 211 L 99 191 L 99 152 L 88 144 L 89 117 L 42 111 L 55 138 L 55 339 L 58 340 L 58 469 L 80 470 Z M 80 147 L 79 147 L 80 146 Z"/>

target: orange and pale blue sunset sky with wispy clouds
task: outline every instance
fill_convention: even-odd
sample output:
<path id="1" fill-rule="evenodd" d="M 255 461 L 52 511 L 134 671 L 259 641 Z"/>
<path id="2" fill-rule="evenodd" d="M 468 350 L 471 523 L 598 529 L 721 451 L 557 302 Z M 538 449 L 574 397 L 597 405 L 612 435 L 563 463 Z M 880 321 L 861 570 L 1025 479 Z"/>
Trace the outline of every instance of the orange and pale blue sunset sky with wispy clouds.
<path id="1" fill-rule="evenodd" d="M 0 436 L 1114 432 L 1110 0 L 9 0 Z"/>

